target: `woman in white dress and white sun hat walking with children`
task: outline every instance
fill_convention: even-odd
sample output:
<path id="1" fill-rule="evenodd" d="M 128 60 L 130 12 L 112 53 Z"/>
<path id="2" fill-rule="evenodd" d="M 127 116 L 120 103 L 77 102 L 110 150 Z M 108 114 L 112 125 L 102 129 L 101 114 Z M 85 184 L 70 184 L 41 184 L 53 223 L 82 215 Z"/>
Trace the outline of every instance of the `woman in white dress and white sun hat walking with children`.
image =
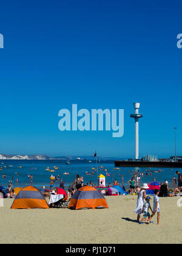
<path id="1" fill-rule="evenodd" d="M 134 212 L 137 214 L 137 222 L 140 222 L 140 215 L 143 213 L 144 200 L 146 200 L 146 190 L 149 189 L 147 183 L 144 183 L 138 194 L 136 209 Z"/>

